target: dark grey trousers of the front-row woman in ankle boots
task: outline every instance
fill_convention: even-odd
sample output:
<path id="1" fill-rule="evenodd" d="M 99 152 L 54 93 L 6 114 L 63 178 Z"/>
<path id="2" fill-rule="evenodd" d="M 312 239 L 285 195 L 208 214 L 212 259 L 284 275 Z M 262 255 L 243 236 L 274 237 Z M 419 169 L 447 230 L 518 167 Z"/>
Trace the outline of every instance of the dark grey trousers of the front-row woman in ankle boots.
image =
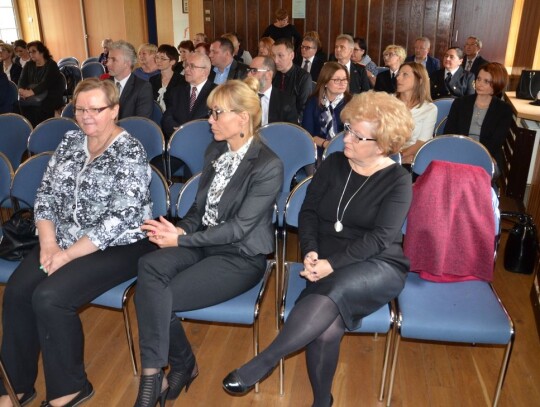
<path id="1" fill-rule="evenodd" d="M 173 312 L 231 299 L 254 287 L 265 268 L 265 255 L 233 245 L 165 248 L 141 258 L 135 306 L 142 367 L 190 366 L 191 347 Z"/>

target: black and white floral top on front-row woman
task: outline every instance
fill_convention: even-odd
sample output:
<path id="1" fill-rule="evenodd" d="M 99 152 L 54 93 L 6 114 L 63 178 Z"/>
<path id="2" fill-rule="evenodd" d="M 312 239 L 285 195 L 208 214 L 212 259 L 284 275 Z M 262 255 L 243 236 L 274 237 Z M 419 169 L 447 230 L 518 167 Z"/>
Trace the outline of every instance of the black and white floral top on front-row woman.
<path id="1" fill-rule="evenodd" d="M 151 170 L 146 152 L 126 131 L 92 162 L 86 135 L 66 133 L 38 189 L 34 216 L 50 220 L 67 249 L 87 236 L 100 250 L 145 237 L 140 226 L 152 217 Z"/>

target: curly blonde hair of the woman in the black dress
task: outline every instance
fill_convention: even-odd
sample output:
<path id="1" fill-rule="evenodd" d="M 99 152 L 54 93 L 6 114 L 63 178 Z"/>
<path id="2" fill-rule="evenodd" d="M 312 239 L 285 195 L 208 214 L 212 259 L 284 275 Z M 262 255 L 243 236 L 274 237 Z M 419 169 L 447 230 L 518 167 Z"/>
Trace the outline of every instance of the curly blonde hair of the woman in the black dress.
<path id="1" fill-rule="evenodd" d="M 405 103 L 386 92 L 372 90 L 354 95 L 341 111 L 342 122 L 366 121 L 371 137 L 385 155 L 395 154 L 411 138 L 414 121 Z"/>

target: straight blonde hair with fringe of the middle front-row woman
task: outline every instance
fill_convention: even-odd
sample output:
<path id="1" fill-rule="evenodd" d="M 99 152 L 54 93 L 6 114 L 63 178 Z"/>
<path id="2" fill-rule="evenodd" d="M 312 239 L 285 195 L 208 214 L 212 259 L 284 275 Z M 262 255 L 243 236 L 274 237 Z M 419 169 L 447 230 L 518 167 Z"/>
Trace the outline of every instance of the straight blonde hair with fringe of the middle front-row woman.
<path id="1" fill-rule="evenodd" d="M 248 84 L 237 79 L 228 80 L 210 92 L 206 103 L 211 109 L 213 106 L 219 106 L 226 110 L 247 112 L 250 133 L 252 136 L 258 137 L 257 130 L 261 126 L 262 117 L 258 91 L 258 81 L 250 80 Z"/>

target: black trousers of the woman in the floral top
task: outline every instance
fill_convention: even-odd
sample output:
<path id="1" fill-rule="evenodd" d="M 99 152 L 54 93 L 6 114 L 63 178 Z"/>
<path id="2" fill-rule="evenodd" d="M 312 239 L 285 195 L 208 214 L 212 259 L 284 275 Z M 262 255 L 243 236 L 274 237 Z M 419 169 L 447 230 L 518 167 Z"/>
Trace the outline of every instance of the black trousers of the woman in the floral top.
<path id="1" fill-rule="evenodd" d="M 78 309 L 137 275 L 137 261 L 156 249 L 147 239 L 80 257 L 47 276 L 39 246 L 11 275 L 3 302 L 2 359 L 17 393 L 32 391 L 41 350 L 47 399 L 80 391 L 86 382 Z M 3 385 L 0 394 L 6 394 Z"/>

